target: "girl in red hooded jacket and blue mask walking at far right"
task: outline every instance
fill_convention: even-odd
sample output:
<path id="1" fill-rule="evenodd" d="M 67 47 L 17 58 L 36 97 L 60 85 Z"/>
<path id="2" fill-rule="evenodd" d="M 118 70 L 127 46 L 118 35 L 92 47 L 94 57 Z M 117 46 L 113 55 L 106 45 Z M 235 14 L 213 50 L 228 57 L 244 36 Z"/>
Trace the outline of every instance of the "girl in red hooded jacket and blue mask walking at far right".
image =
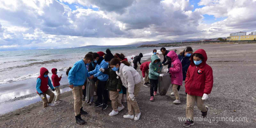
<path id="1" fill-rule="evenodd" d="M 191 56 L 191 64 L 186 74 L 185 88 L 187 93 L 186 117 L 188 120 L 183 124 L 184 127 L 194 125 L 194 104 L 197 103 L 198 109 L 202 112 L 203 118 L 206 117 L 209 107 L 204 105 L 204 100 L 208 99 L 213 86 L 213 73 L 209 65 L 206 64 L 207 55 L 205 50 L 198 49 Z"/>

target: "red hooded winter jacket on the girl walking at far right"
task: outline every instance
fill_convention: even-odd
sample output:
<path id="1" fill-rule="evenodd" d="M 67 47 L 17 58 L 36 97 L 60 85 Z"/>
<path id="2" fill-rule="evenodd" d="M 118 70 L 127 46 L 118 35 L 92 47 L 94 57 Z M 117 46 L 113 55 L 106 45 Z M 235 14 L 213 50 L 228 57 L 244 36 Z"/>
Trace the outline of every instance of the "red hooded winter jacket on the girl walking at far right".
<path id="1" fill-rule="evenodd" d="M 206 64 L 207 55 L 205 50 L 198 49 L 193 54 L 202 54 L 204 59 L 200 65 L 195 65 L 193 62 L 193 56 L 191 56 L 190 66 L 187 72 L 185 81 L 186 93 L 189 95 L 203 96 L 210 94 L 213 86 L 213 73 L 211 66 Z"/>

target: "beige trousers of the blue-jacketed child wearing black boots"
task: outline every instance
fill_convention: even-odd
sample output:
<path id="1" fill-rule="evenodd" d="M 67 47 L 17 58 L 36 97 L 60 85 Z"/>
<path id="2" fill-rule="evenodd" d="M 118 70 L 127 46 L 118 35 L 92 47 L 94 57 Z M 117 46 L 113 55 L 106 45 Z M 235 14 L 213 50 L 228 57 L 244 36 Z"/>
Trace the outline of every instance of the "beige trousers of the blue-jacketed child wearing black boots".
<path id="1" fill-rule="evenodd" d="M 73 97 L 74 97 L 74 110 L 75 115 L 80 115 L 80 109 L 82 107 L 82 99 L 83 99 L 83 86 L 76 86 L 72 89 Z"/>

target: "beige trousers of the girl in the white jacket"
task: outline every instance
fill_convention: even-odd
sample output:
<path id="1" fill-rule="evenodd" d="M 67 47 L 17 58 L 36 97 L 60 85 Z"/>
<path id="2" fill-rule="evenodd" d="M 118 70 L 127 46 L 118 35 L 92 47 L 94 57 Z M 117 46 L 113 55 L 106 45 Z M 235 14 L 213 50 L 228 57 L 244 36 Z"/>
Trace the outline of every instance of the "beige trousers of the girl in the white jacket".
<path id="1" fill-rule="evenodd" d="M 141 83 L 134 85 L 134 93 L 133 93 L 133 95 L 135 96 L 134 101 L 131 100 L 131 98 L 129 97 L 128 89 L 126 91 L 127 109 L 128 109 L 129 115 L 133 115 L 133 110 L 135 111 L 136 114 L 140 113 L 140 108 L 136 101 L 136 98 L 138 97 L 140 89 L 141 89 Z"/>

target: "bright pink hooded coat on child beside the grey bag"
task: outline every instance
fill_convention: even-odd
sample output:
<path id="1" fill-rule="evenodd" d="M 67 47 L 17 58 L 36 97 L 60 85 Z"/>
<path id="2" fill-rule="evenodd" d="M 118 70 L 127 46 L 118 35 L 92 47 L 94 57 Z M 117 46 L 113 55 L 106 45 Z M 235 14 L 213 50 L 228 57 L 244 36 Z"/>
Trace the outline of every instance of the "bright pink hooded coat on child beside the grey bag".
<path id="1" fill-rule="evenodd" d="M 172 84 L 182 86 L 182 65 L 179 61 L 178 55 L 175 53 L 175 51 L 170 51 L 167 56 L 172 59 L 171 67 L 169 68 Z"/>

